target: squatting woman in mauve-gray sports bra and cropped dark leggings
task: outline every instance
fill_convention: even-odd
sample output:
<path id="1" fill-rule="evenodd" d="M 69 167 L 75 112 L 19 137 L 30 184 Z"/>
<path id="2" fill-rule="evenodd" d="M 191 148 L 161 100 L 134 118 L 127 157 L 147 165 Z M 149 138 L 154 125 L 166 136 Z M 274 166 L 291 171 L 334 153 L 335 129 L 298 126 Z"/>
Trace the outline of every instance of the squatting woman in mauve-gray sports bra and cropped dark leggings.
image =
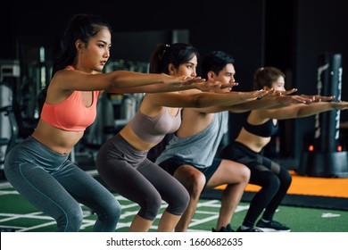
<path id="1" fill-rule="evenodd" d="M 195 77 L 198 52 L 187 44 L 158 46 L 150 72 Z M 129 231 L 148 231 L 164 200 L 158 231 L 173 231 L 186 210 L 186 188 L 157 164 L 147 159 L 148 151 L 175 132 L 181 123 L 182 107 L 239 104 L 264 96 L 268 91 L 224 94 L 187 94 L 189 90 L 146 94 L 136 116 L 100 148 L 96 167 L 100 176 L 121 196 L 139 204 L 140 211 Z M 185 93 L 185 94 L 184 94 Z"/>

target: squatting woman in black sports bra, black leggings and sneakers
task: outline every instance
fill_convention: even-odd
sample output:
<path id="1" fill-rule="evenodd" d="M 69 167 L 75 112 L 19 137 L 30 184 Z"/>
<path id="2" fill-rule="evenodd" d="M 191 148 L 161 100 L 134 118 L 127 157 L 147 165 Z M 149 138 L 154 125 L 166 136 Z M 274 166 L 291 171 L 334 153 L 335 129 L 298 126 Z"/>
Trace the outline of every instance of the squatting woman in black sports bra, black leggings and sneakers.
<path id="1" fill-rule="evenodd" d="M 285 90 L 285 75 L 277 68 L 259 68 L 254 74 L 255 89 Z M 293 104 L 286 107 L 253 110 L 244 122 L 236 140 L 222 151 L 222 158 L 244 163 L 251 170 L 249 183 L 261 186 L 253 197 L 243 225 L 238 231 L 290 231 L 273 221 L 279 204 L 291 185 L 291 175 L 285 167 L 262 156 L 261 150 L 269 144 L 278 130 L 278 120 L 310 116 L 319 112 L 347 109 L 347 102 L 320 102 L 335 96 L 312 96 L 311 104 Z M 262 213 L 263 212 L 263 213 Z M 261 216 L 261 220 L 254 224 Z"/>

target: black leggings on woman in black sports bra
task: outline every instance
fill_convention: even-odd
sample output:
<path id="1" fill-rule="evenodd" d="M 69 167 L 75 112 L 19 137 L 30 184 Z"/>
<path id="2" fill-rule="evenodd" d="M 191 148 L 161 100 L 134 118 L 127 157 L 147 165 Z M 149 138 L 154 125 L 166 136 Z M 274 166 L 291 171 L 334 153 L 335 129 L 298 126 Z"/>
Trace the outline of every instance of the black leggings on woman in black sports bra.
<path id="1" fill-rule="evenodd" d="M 262 218 L 272 220 L 279 204 L 286 196 L 292 177 L 289 172 L 277 162 L 253 152 L 241 143 L 234 142 L 222 150 L 222 159 L 243 163 L 250 171 L 249 183 L 261 186 L 253 196 L 249 210 L 245 215 L 243 225 L 253 227 L 262 211 Z"/>

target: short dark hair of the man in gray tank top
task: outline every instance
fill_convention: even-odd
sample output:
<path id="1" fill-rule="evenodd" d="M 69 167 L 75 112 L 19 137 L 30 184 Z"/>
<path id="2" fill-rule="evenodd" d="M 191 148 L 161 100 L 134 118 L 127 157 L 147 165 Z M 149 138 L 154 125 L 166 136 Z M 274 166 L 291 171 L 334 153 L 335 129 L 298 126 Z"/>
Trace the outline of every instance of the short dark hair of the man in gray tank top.
<path id="1" fill-rule="evenodd" d="M 235 63 L 235 59 L 223 51 L 213 51 L 206 54 L 202 59 L 201 66 L 203 78 L 207 77 L 209 71 L 219 75 L 228 63 Z"/>

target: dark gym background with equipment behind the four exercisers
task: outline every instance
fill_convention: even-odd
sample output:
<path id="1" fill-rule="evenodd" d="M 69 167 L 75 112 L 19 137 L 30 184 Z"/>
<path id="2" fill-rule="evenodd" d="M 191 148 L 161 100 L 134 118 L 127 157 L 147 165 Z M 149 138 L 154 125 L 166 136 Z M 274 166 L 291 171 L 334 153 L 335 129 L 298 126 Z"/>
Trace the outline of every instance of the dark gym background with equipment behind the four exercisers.
<path id="1" fill-rule="evenodd" d="M 325 54 L 339 54 L 343 69 L 340 98 L 348 100 L 345 0 L 11 1 L 1 9 L 1 161 L 6 150 L 36 127 L 40 90 L 49 82 L 62 30 L 74 13 L 93 12 L 111 22 L 109 70 L 146 71 L 157 44 L 181 41 L 197 47 L 200 54 L 212 50 L 232 54 L 238 91 L 252 89 L 253 72 L 258 67 L 275 66 L 286 72 L 286 88 L 296 87 L 298 94 L 316 95 L 320 59 Z M 93 159 L 104 139 L 128 121 L 133 111 L 126 100 L 137 102 L 137 98 L 108 96 L 101 102 L 100 116 L 75 149 L 76 157 L 83 155 L 81 162 L 89 159 L 86 155 Z M 236 136 L 239 120 L 238 115 L 231 114 L 228 139 Z M 343 159 L 348 150 L 347 123 L 348 112 L 341 112 L 337 141 Z M 314 124 L 315 117 L 282 121 L 279 136 L 266 154 L 290 160 L 289 168 L 298 171 L 302 153 L 311 143 Z M 346 164 L 342 168 L 344 176 L 348 172 Z M 305 170 L 302 173 L 307 174 Z M 1 179 L 5 179 L 3 173 Z"/>

